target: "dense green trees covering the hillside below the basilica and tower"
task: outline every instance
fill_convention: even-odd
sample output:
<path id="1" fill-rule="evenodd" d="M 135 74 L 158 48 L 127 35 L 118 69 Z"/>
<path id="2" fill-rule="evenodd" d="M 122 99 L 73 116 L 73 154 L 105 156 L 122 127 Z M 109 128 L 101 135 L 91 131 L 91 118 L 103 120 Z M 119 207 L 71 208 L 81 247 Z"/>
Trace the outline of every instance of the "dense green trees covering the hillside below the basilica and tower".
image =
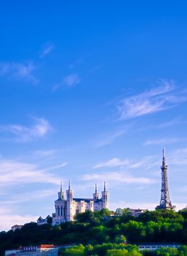
<path id="1" fill-rule="evenodd" d="M 84 255 L 86 253 L 86 255 L 103 256 L 107 250 L 111 250 L 108 253 L 116 253 L 114 249 L 123 250 L 124 247 L 121 248 L 122 244 L 120 243 L 124 241 L 127 241 L 128 244 L 145 242 L 187 244 L 187 209 L 178 213 L 170 210 L 146 211 L 145 214 L 141 214 L 137 218 L 131 217 L 127 209 L 122 215 L 116 217 L 110 217 L 110 212 L 103 209 L 102 211 L 86 211 L 83 214 L 77 214 L 75 222 L 65 222 L 59 226 L 49 224 L 38 226 L 31 222 L 15 232 L 12 230 L 0 232 L 0 255 L 4 255 L 5 249 L 19 246 L 83 244 L 86 246 Z M 102 246 L 100 246 L 101 244 Z M 114 244 L 116 245 L 114 246 Z M 81 249 L 82 247 L 74 247 L 71 253 L 73 250 L 79 250 L 79 255 L 81 255 L 83 253 Z M 133 253 L 138 252 L 137 248 L 132 249 L 132 246 L 128 248 L 126 246 L 125 249 L 128 253 L 133 250 Z M 178 250 L 178 255 L 187 255 L 185 250 L 186 247 L 180 249 L 180 252 Z M 154 253 L 160 253 L 160 255 L 175 253 L 175 249 L 172 250 L 173 252 L 162 251 L 163 249 Z M 117 253 L 118 255 L 124 254 L 121 251 Z M 144 255 L 156 254 L 144 252 Z"/>

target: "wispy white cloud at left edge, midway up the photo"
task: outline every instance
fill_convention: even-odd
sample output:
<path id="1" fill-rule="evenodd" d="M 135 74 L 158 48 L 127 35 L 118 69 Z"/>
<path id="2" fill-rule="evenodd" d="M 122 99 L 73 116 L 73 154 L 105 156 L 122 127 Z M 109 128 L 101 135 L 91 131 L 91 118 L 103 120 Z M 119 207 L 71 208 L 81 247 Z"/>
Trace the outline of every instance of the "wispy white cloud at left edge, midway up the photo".
<path id="1" fill-rule="evenodd" d="M 36 138 L 44 138 L 52 127 L 44 118 L 33 118 L 34 124 L 31 126 L 23 126 L 20 124 L 0 125 L 0 132 L 12 135 L 10 140 L 16 142 L 28 142 Z"/>

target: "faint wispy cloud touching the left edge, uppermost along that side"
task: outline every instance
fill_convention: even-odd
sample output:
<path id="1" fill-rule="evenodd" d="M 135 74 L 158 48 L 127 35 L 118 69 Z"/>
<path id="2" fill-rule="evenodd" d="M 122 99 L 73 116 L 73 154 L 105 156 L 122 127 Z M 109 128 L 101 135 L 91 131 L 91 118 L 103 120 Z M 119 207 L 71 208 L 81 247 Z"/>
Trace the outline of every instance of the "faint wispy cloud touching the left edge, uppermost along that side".
<path id="1" fill-rule="evenodd" d="M 31 83 L 38 83 L 39 80 L 33 75 L 36 67 L 32 61 L 28 63 L 1 62 L 0 77 L 12 78 L 15 80 L 28 80 Z"/>

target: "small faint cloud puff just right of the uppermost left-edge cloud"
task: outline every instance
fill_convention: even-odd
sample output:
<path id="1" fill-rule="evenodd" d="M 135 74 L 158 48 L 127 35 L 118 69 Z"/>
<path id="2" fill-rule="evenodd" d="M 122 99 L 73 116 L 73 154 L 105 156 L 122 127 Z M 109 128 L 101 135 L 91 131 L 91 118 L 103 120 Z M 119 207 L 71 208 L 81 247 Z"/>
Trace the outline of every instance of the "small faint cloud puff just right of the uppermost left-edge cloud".
<path id="1" fill-rule="evenodd" d="M 73 87 L 79 84 L 80 82 L 81 82 L 81 78 L 79 78 L 79 75 L 76 73 L 71 73 L 70 75 L 66 75 L 65 77 L 63 77 L 60 83 L 56 83 L 52 91 L 56 91 L 62 86 Z"/>

